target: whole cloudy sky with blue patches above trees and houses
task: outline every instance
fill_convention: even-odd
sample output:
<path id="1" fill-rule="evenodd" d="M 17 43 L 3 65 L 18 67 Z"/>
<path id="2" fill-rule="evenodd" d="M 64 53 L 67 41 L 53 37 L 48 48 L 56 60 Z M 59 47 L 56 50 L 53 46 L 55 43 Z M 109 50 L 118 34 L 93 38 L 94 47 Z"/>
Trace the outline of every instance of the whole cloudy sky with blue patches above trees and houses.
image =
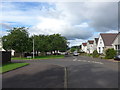
<path id="1" fill-rule="evenodd" d="M 30 35 L 59 33 L 73 46 L 118 30 L 117 2 L 2 2 L 0 9 L 2 36 L 25 26 Z"/>

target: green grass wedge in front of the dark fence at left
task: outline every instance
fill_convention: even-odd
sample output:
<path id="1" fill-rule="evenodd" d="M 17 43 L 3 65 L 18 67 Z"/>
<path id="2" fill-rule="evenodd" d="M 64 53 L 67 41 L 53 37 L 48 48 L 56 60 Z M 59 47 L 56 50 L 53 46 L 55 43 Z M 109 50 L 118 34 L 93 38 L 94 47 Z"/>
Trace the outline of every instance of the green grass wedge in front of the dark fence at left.
<path id="1" fill-rule="evenodd" d="M 14 70 L 16 68 L 23 67 L 23 66 L 26 66 L 26 65 L 29 65 L 29 63 L 7 63 L 7 64 L 3 64 L 2 67 L 0 67 L 0 73 L 11 71 L 11 70 Z"/>

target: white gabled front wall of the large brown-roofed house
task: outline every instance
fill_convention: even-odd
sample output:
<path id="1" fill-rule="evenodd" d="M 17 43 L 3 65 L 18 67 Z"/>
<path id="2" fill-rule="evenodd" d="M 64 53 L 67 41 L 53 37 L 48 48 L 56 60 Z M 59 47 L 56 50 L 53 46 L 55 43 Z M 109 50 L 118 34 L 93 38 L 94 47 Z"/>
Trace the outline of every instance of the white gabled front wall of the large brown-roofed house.
<path id="1" fill-rule="evenodd" d="M 98 39 L 97 52 L 99 54 L 103 54 L 104 53 L 104 41 L 103 41 L 101 36 L 99 36 L 99 39 Z"/>

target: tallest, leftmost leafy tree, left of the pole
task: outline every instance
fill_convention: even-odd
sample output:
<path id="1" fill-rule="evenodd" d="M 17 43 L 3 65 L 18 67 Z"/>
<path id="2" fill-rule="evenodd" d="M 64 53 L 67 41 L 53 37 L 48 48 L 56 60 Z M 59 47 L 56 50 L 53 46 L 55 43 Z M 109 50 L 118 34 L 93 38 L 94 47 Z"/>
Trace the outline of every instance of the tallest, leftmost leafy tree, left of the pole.
<path id="1" fill-rule="evenodd" d="M 3 47 L 6 50 L 15 50 L 18 53 L 29 50 L 29 34 L 25 27 L 17 27 L 9 30 L 9 34 L 3 37 Z"/>

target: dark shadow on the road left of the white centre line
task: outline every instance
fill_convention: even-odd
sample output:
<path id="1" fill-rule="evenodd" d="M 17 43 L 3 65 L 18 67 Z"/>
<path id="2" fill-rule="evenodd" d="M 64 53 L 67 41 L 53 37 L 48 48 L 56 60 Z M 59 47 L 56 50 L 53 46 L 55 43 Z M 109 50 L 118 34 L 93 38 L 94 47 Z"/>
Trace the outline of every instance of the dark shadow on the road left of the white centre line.
<path id="1" fill-rule="evenodd" d="M 2 83 L 3 88 L 63 88 L 64 69 L 52 67 L 38 73 L 3 76 Z"/>

